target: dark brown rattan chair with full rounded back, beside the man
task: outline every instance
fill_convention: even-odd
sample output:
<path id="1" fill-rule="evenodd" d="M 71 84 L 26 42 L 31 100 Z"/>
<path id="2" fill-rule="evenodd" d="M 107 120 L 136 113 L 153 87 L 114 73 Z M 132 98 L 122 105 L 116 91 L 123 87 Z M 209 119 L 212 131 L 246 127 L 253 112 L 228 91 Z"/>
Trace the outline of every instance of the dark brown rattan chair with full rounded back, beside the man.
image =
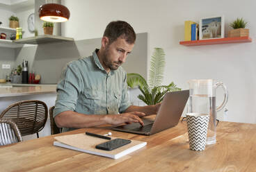
<path id="1" fill-rule="evenodd" d="M 12 119 L 22 136 L 37 134 L 45 127 L 48 117 L 47 105 L 42 101 L 19 101 L 3 110 L 0 119 Z"/>

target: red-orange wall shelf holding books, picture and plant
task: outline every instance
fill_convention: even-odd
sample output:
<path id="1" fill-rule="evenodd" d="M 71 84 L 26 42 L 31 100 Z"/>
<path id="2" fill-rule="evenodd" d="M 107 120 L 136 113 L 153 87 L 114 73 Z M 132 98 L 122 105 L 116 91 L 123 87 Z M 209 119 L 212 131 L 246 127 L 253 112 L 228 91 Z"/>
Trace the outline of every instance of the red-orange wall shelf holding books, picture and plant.
<path id="1" fill-rule="evenodd" d="M 211 44 L 232 44 L 232 43 L 242 43 L 242 42 L 252 42 L 250 37 L 224 37 L 218 39 L 209 40 L 196 40 L 196 41 L 181 41 L 179 44 L 184 46 L 200 46 L 200 45 L 211 45 Z"/>

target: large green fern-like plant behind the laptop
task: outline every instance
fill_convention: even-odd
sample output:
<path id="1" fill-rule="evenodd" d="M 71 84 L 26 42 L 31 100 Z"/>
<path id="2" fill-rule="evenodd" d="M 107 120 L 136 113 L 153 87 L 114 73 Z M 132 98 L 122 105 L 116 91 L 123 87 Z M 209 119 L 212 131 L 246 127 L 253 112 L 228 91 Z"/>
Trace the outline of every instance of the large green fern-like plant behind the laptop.
<path id="1" fill-rule="evenodd" d="M 165 67 L 164 56 L 163 49 L 155 48 L 150 60 L 150 72 L 147 82 L 140 74 L 127 74 L 127 85 L 131 88 L 138 86 L 142 93 L 138 95 L 138 98 L 147 105 L 155 105 L 161 102 L 166 92 L 181 90 L 173 82 L 169 85 L 161 85 Z"/>

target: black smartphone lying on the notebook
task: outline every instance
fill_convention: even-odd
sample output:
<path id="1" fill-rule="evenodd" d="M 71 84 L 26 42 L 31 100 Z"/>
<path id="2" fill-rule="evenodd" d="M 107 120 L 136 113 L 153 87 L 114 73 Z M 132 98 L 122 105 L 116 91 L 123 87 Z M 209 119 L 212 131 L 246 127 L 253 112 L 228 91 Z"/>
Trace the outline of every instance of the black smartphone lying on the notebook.
<path id="1" fill-rule="evenodd" d="M 96 148 L 102 150 L 113 150 L 115 148 L 120 148 L 121 146 L 124 146 L 129 143 L 131 143 L 131 140 L 128 139 L 113 139 L 111 141 L 106 141 L 103 144 L 96 145 Z"/>

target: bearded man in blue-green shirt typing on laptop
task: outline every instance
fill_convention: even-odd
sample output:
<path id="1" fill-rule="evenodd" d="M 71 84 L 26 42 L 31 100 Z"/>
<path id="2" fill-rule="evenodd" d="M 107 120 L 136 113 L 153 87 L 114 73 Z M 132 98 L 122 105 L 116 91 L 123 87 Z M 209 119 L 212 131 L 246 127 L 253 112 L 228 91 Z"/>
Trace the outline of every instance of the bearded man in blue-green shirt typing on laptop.
<path id="1" fill-rule="evenodd" d="M 67 131 L 102 124 L 143 125 L 140 117 L 157 114 L 160 104 L 140 107 L 129 103 L 127 74 L 120 66 L 135 40 L 134 29 L 127 22 L 111 22 L 100 49 L 67 64 L 57 86 L 54 119 L 58 127 Z"/>

